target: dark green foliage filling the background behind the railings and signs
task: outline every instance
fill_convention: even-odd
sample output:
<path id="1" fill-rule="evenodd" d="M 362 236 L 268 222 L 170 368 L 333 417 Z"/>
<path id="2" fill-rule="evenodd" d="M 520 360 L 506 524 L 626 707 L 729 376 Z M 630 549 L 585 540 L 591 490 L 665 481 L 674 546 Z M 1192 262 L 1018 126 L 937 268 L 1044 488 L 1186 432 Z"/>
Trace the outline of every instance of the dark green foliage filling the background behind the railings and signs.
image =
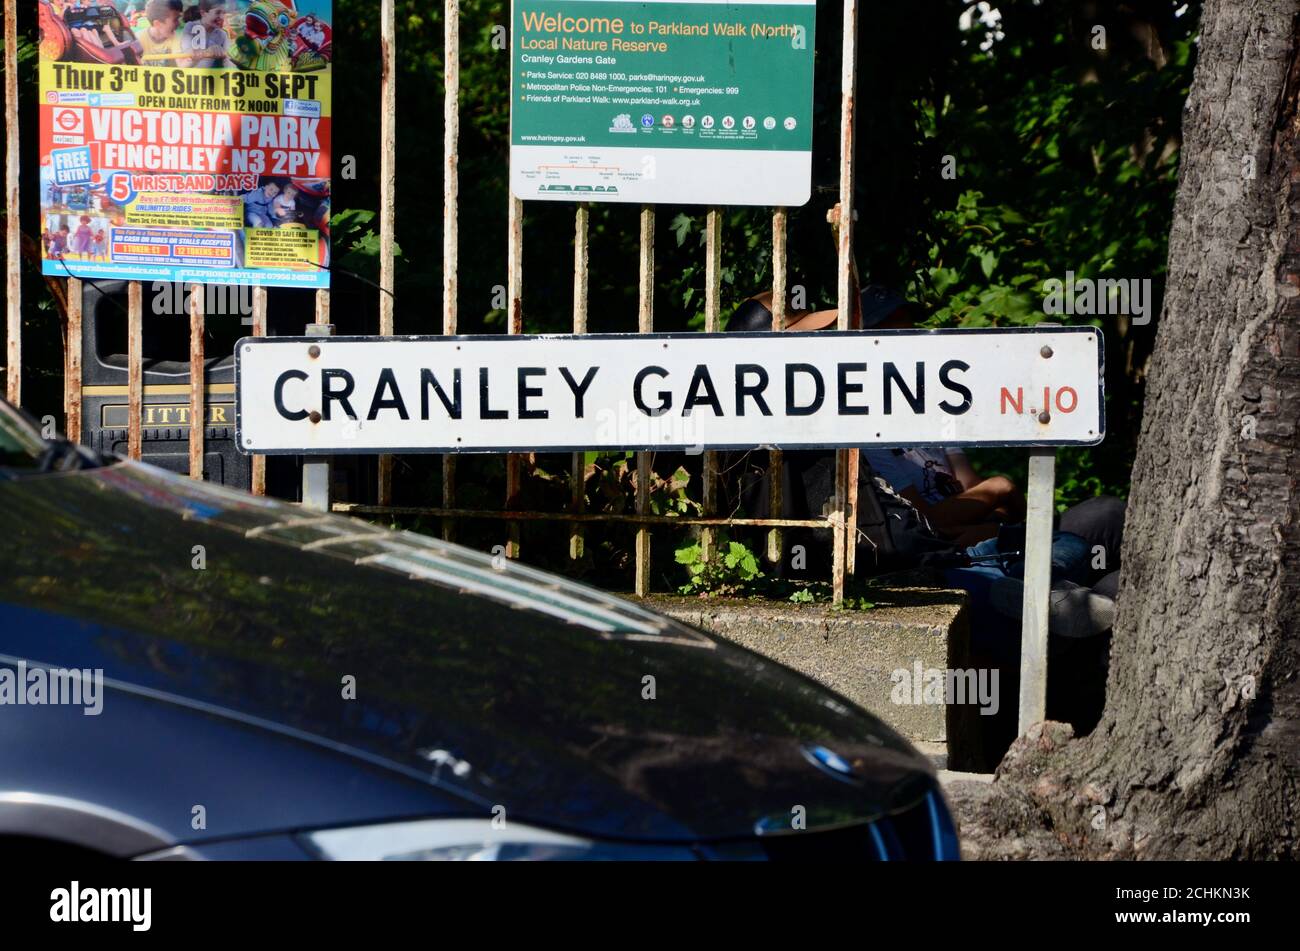
<path id="1" fill-rule="evenodd" d="M 976 25 L 965 31 L 959 17 L 970 6 L 966 0 L 863 8 L 854 196 L 862 279 L 906 291 L 923 307 L 930 326 L 1039 322 L 1044 320 L 1044 282 L 1063 278 L 1066 270 L 1078 277 L 1152 278 L 1158 307 L 1200 1 L 998 0 L 993 5 L 1001 14 L 996 30 Z M 805 207 L 788 209 L 788 281 L 792 288 L 803 290 L 810 308 L 835 304 L 836 251 L 826 214 L 838 200 L 840 181 L 841 8 L 818 6 L 812 196 Z M 462 333 L 504 327 L 506 312 L 498 308 L 494 291 L 507 283 L 510 53 L 493 44 L 493 29 L 510 23 L 510 9 L 506 0 L 476 0 L 460 9 L 455 160 Z M 438 333 L 443 10 L 396 0 L 396 238 L 404 255 L 394 288 L 395 325 L 399 333 Z M 335 0 L 335 22 L 341 39 L 333 152 L 339 158 L 355 156 L 356 178 L 338 177 L 333 183 L 334 313 L 341 333 L 364 334 L 378 327 L 380 295 L 367 283 L 378 273 L 378 5 Z M 1105 49 L 1091 43 L 1098 25 L 1106 29 Z M 30 143 L 36 138 L 36 110 L 30 108 L 36 82 L 35 17 L 25 17 L 22 26 L 18 79 L 27 96 L 21 123 L 22 139 Z M 956 178 L 942 175 L 945 156 L 953 157 Z M 31 181 L 26 171 L 25 181 Z M 29 233 L 36 220 L 34 197 L 34 190 L 25 191 L 22 222 Z M 524 330 L 567 331 L 573 318 L 573 207 L 528 201 L 524 212 Z M 740 301 L 771 286 L 772 226 L 766 208 L 723 208 L 720 216 L 725 326 Z M 590 208 L 592 331 L 636 329 L 637 217 L 634 207 Z M 660 205 L 655 218 L 655 327 L 702 329 L 706 209 Z M 1062 507 L 1100 492 L 1127 494 L 1143 368 L 1158 321 L 1147 327 L 1113 317 L 1095 322 L 1106 339 L 1108 437 L 1097 448 L 1058 453 L 1057 503 Z M 27 266 L 23 338 L 27 403 L 40 412 L 57 412 L 58 321 L 40 275 Z M 983 474 L 1005 472 L 1024 485 L 1023 451 L 970 455 Z M 458 504 L 499 508 L 502 461 L 467 457 L 459 465 Z M 636 466 L 628 453 L 592 453 L 585 466 L 588 511 L 634 508 Z M 395 494 L 403 503 L 432 504 L 439 492 L 436 457 L 400 460 Z M 524 501 L 538 508 L 569 504 L 567 460 L 538 465 L 525 479 L 524 492 Z M 681 470 L 658 473 L 650 509 L 698 514 L 701 507 L 692 494 L 699 498 L 698 474 L 690 485 Z M 437 530 L 438 522 L 424 527 Z M 567 534 L 552 524 L 524 526 L 525 551 L 530 560 L 551 568 L 606 572 L 599 576 L 602 583 L 625 583 L 632 533 L 621 525 L 593 524 L 584 530 L 589 539 L 584 560 L 569 561 Z M 476 544 L 499 540 L 491 534 L 499 531 L 494 524 L 467 522 L 460 531 L 463 540 Z M 656 530 L 655 544 L 671 551 L 680 537 Z M 666 552 L 662 563 L 667 561 Z M 656 578 L 666 585 L 677 581 Z M 758 581 L 744 585 L 754 590 Z M 764 583 L 775 590 L 771 581 Z"/>

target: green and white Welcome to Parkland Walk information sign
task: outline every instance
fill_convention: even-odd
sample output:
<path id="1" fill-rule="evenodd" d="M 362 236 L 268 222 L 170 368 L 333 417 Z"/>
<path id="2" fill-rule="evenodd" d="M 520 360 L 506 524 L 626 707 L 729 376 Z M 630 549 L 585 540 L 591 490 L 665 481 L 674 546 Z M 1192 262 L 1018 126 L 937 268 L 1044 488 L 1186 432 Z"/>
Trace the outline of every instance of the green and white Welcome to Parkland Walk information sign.
<path id="1" fill-rule="evenodd" d="M 521 199 L 802 205 L 815 0 L 515 0 Z"/>

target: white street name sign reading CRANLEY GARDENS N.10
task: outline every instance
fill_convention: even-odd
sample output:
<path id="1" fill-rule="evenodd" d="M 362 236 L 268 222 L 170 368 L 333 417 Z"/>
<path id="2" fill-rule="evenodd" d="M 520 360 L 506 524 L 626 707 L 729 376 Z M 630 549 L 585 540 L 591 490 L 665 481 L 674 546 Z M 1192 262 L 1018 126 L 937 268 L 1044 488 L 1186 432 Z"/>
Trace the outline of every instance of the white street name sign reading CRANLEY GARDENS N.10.
<path id="1" fill-rule="evenodd" d="M 1093 446 L 1096 327 L 244 338 L 240 451 Z"/>

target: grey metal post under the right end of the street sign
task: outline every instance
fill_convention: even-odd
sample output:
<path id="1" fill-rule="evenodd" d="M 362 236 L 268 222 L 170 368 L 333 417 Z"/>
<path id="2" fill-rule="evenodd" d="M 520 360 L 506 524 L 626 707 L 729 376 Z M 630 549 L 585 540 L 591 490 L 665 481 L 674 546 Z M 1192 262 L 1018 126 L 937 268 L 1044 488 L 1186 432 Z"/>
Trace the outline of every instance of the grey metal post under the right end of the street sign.
<path id="1" fill-rule="evenodd" d="M 1056 509 L 1056 450 L 1030 450 L 1028 514 L 1024 524 L 1024 607 L 1020 615 L 1019 735 L 1046 718 L 1048 607 L 1052 598 L 1052 516 Z"/>

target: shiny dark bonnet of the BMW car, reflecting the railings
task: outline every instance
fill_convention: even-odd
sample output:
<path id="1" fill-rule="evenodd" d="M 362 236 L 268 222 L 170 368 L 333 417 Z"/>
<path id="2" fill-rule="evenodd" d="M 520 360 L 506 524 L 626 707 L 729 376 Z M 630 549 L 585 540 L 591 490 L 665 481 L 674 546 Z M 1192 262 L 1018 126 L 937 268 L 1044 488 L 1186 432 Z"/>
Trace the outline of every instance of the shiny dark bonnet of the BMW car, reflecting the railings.
<path id="1" fill-rule="evenodd" d="M 862 822 L 932 787 L 897 734 L 800 674 L 422 535 L 139 464 L 0 485 L 0 653 L 101 666 L 473 815 L 728 838 Z"/>

